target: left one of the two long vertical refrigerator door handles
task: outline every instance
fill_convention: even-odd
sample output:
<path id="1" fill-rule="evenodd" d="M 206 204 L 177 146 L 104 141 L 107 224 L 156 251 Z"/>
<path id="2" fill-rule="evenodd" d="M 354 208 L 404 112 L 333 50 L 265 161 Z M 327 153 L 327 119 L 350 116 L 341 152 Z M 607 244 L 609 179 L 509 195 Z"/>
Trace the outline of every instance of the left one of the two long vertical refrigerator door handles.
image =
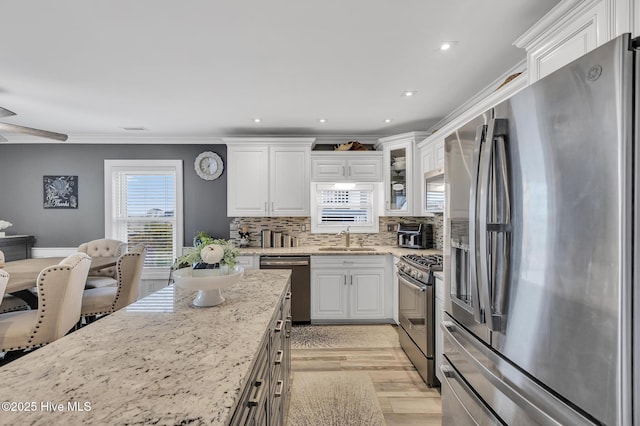
<path id="1" fill-rule="evenodd" d="M 473 317 L 478 324 L 483 322 L 482 319 L 482 307 L 480 305 L 480 298 L 478 292 L 478 262 L 477 262 L 477 225 L 478 225 L 478 180 L 479 180 L 479 167 L 480 158 L 482 156 L 483 149 L 486 146 L 486 131 L 487 126 L 478 126 L 476 130 L 475 144 L 478 146 L 478 159 L 475 162 L 474 172 L 471 182 L 471 190 L 469 191 L 469 292 L 471 296 L 471 307 L 473 309 Z M 455 300 L 455 299 L 454 299 Z"/>

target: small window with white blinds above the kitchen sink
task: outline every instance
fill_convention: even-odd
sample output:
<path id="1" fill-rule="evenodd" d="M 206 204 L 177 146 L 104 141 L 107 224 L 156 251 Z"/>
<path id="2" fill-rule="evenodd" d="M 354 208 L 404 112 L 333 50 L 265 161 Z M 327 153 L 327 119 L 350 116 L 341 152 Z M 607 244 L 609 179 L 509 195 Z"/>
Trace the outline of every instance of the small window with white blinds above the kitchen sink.
<path id="1" fill-rule="evenodd" d="M 312 232 L 378 232 L 373 184 L 316 184 Z"/>

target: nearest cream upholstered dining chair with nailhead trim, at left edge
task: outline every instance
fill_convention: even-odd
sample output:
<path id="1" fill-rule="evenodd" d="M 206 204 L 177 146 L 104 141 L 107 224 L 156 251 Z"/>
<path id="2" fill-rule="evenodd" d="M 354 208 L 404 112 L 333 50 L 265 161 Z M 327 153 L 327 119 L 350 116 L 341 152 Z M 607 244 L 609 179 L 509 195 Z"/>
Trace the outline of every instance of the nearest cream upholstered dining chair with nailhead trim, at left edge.
<path id="1" fill-rule="evenodd" d="M 80 319 L 91 257 L 75 253 L 40 271 L 38 309 L 0 315 L 0 352 L 37 348 L 59 339 Z"/>

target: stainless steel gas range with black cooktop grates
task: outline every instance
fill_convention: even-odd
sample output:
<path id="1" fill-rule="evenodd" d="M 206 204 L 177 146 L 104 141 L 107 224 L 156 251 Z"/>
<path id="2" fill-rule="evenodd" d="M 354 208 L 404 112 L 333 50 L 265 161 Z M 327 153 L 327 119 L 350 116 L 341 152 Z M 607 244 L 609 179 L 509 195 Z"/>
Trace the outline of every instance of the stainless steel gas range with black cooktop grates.
<path id="1" fill-rule="evenodd" d="M 441 255 L 409 254 L 398 261 L 400 346 L 428 386 L 438 386 L 435 374 L 435 277 Z"/>

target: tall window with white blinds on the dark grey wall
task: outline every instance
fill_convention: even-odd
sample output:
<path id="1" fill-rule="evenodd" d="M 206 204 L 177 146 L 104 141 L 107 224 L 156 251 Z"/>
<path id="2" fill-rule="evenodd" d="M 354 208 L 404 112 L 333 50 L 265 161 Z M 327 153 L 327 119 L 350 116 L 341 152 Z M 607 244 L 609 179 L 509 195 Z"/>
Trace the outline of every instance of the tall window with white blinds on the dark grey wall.
<path id="1" fill-rule="evenodd" d="M 105 160 L 112 200 L 107 235 L 146 246 L 145 268 L 170 267 L 178 255 L 182 163 L 177 163 L 180 167 L 171 160 Z"/>

